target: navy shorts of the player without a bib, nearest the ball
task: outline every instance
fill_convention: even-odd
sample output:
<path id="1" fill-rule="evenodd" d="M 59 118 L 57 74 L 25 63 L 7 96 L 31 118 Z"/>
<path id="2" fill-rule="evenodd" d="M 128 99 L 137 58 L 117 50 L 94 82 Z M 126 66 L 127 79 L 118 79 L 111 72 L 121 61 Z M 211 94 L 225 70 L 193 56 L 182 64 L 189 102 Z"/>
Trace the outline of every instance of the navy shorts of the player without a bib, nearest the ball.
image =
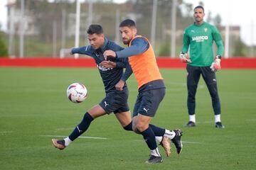
<path id="1" fill-rule="evenodd" d="M 99 103 L 99 105 L 106 111 L 107 114 L 112 112 L 122 113 L 129 111 L 128 106 L 128 89 L 124 88 L 122 91 L 111 91 L 106 94 L 106 97 Z"/>

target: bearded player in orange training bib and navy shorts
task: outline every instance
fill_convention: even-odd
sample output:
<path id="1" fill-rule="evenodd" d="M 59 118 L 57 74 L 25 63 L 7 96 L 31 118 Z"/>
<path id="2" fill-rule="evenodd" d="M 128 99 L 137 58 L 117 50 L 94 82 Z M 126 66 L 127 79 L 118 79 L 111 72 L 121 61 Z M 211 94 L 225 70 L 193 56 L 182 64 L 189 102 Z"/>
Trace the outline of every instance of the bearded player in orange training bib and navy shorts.
<path id="1" fill-rule="evenodd" d="M 146 163 L 163 162 L 155 137 L 163 136 L 162 144 L 167 148 L 170 145 L 170 140 L 174 142 L 177 152 L 180 154 L 182 149 L 181 130 L 166 130 L 149 124 L 164 98 L 166 87 L 156 64 L 154 50 L 147 38 L 137 35 L 134 21 L 130 19 L 122 21 L 119 30 L 122 41 L 129 47 L 118 52 L 106 50 L 104 55 L 105 57 L 115 57 L 117 60 L 129 58 L 129 64 L 137 79 L 139 91 L 132 118 L 133 130 L 142 134 L 146 145 L 151 150 L 151 155 Z M 167 156 L 170 152 L 168 149 L 165 148 Z"/>

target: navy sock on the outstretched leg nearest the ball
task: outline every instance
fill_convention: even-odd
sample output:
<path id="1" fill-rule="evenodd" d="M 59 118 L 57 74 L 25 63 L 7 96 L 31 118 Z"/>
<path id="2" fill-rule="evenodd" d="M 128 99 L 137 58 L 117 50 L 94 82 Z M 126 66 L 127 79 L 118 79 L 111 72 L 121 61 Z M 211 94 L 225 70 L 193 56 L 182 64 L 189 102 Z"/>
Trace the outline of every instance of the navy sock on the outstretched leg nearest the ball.
<path id="1" fill-rule="evenodd" d="M 92 122 L 92 120 L 93 120 L 92 116 L 89 113 L 85 113 L 81 123 L 69 135 L 70 140 L 73 141 L 76 138 L 78 138 L 80 135 L 82 135 L 82 133 L 85 132 L 87 128 L 90 126 L 90 123 Z"/>

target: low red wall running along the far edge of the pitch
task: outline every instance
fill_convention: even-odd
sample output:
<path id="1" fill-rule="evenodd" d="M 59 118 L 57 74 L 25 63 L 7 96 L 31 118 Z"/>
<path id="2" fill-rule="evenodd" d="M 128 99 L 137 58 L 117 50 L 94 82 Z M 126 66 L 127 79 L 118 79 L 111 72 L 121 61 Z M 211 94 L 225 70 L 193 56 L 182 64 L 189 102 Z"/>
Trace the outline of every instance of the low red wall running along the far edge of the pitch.
<path id="1" fill-rule="evenodd" d="M 184 68 L 186 64 L 178 59 L 158 57 L 157 63 L 160 68 Z M 92 58 L 6 58 L 0 57 L 0 67 L 95 67 Z M 256 69 L 256 58 L 230 58 L 221 61 L 222 69 Z"/>

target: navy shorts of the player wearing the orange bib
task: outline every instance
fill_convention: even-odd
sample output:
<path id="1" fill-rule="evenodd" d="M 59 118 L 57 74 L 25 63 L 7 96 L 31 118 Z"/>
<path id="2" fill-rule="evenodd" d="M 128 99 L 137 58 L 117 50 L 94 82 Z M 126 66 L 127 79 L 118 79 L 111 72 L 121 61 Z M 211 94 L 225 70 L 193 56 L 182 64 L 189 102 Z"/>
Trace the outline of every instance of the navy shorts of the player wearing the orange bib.
<path id="1" fill-rule="evenodd" d="M 163 100 L 166 88 L 149 89 L 147 91 L 139 91 L 137 101 L 134 106 L 133 117 L 139 114 L 154 117 L 160 102 Z"/>

